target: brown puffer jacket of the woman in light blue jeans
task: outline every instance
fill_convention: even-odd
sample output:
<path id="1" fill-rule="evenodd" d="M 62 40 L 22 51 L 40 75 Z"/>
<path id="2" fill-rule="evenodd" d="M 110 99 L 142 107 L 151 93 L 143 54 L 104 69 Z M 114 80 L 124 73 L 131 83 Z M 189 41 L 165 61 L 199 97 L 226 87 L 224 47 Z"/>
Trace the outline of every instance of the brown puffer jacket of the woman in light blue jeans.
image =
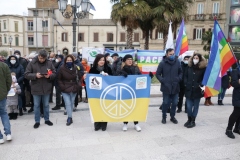
<path id="1" fill-rule="evenodd" d="M 78 74 L 78 82 L 77 82 Z M 63 64 L 60 67 L 58 73 L 58 85 L 61 92 L 63 93 L 77 93 L 81 87 L 81 78 L 80 67 L 74 65 L 72 70 L 70 70 L 66 64 Z"/>

